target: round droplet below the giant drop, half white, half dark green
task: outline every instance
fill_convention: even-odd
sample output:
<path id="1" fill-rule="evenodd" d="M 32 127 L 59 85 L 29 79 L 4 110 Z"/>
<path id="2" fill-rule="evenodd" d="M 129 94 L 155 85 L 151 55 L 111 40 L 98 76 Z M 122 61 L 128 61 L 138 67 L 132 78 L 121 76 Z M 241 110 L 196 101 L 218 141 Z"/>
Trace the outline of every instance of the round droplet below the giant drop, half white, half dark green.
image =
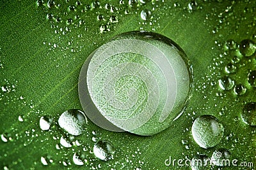
<path id="1" fill-rule="evenodd" d="M 101 160 L 113 159 L 114 148 L 109 141 L 98 141 L 93 147 L 95 157 Z"/>

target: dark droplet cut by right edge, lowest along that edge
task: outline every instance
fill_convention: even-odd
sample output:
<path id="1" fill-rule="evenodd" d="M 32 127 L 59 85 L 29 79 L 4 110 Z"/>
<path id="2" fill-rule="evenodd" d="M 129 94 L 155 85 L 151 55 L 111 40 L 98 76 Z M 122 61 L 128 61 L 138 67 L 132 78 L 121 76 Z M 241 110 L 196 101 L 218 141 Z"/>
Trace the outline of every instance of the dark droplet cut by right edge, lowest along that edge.
<path id="1" fill-rule="evenodd" d="M 245 104 L 241 116 L 245 124 L 256 125 L 256 103 Z"/>

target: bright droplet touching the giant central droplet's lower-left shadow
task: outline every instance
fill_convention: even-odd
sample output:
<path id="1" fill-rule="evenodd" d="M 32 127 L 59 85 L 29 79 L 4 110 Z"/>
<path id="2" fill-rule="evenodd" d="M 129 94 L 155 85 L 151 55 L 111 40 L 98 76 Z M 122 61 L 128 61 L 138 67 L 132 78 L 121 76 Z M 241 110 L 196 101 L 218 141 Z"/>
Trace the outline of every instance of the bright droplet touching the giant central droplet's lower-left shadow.
<path id="1" fill-rule="evenodd" d="M 77 136 L 84 131 L 84 125 L 87 124 L 87 118 L 83 111 L 72 109 L 62 113 L 58 123 L 60 127 L 69 134 Z"/>

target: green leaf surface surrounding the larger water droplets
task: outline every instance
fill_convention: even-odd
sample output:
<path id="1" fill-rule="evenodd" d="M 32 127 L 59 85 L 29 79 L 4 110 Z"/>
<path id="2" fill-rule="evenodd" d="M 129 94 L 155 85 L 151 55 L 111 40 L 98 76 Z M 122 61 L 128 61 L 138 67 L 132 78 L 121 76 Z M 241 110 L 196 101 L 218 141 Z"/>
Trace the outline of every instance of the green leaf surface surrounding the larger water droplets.
<path id="1" fill-rule="evenodd" d="M 256 100 L 255 88 L 247 81 L 249 70 L 256 67 L 255 53 L 244 57 L 238 50 L 223 48 L 228 39 L 234 39 L 236 45 L 243 39 L 255 43 L 256 1 L 142 2 L 146 1 L 0 2 L 2 169 L 191 169 L 177 161 L 175 166 L 164 162 L 170 157 L 191 160 L 198 153 L 211 157 L 221 148 L 230 152 L 230 160 L 238 160 L 237 167 L 225 169 L 249 168 L 241 166 L 243 162 L 256 164 L 255 126 L 241 118 L 244 104 Z M 136 30 L 163 34 L 188 56 L 194 87 L 186 111 L 154 136 L 110 132 L 90 120 L 83 134 L 67 136 L 58 118 L 64 111 L 82 110 L 77 83 L 84 61 L 113 36 Z M 228 74 L 225 66 L 234 55 L 240 66 Z M 245 94 L 222 90 L 218 80 L 225 75 L 235 85 L 243 84 Z M 200 115 L 213 115 L 224 127 L 221 142 L 207 150 L 191 135 L 192 124 Z M 53 120 L 49 131 L 40 129 L 44 116 Z M 72 147 L 63 147 L 61 136 Z M 113 145 L 113 159 L 95 157 L 93 146 L 99 140 Z M 74 153 L 83 166 L 74 163 Z"/>

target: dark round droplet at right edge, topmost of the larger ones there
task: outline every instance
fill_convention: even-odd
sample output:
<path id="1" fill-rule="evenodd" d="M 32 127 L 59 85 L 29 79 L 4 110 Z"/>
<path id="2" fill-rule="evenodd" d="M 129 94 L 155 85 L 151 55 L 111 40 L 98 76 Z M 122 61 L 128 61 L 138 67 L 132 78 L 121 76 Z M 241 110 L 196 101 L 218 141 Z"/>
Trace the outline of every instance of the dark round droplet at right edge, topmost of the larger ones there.
<path id="1" fill-rule="evenodd" d="M 246 57 L 250 57 L 255 53 L 256 46 L 250 39 L 244 39 L 239 45 L 239 51 Z"/>

